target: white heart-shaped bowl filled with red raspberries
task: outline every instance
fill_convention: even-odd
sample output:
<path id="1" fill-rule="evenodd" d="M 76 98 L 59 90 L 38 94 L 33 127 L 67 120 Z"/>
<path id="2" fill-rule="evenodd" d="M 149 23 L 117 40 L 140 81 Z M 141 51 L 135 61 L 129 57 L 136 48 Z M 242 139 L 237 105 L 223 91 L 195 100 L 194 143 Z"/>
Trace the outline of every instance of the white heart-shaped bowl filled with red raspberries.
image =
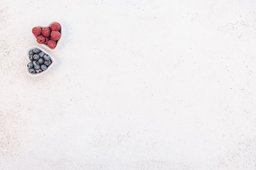
<path id="1" fill-rule="evenodd" d="M 52 22 L 48 26 L 35 26 L 32 33 L 36 42 L 53 51 L 61 40 L 61 24 Z"/>

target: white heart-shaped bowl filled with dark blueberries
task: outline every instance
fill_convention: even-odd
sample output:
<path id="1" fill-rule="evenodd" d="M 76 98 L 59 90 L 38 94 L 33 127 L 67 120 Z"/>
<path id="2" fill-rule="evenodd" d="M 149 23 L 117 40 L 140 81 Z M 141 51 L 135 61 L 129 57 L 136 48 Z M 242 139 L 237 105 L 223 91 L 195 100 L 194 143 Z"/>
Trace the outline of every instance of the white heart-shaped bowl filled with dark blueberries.
<path id="1" fill-rule="evenodd" d="M 27 59 L 26 71 L 28 75 L 33 77 L 46 73 L 55 63 L 54 58 L 37 46 L 31 46 L 27 49 Z"/>

